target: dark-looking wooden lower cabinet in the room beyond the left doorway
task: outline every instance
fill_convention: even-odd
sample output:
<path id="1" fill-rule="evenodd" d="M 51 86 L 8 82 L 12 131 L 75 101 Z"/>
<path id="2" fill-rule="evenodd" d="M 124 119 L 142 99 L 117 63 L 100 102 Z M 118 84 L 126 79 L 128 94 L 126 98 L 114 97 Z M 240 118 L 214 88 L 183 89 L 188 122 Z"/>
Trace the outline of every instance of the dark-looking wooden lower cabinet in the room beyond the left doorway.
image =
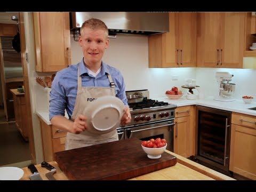
<path id="1" fill-rule="evenodd" d="M 17 89 L 11 89 L 13 94 L 13 105 L 14 105 L 14 115 L 15 115 L 15 125 L 21 133 L 24 140 L 28 141 L 28 115 L 27 115 L 27 105 L 25 99 L 25 93 L 19 93 Z"/>

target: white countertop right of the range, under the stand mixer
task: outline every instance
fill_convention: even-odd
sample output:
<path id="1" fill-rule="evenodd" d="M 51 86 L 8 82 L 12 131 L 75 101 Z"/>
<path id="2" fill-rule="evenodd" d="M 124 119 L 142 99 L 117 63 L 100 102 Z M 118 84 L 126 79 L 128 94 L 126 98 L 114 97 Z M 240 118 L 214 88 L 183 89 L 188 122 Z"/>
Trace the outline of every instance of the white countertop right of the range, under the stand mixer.
<path id="1" fill-rule="evenodd" d="M 205 107 L 212 107 L 216 109 L 228 110 L 237 113 L 247 114 L 247 115 L 254 115 L 256 116 L 256 110 L 251 110 L 248 108 L 256 107 L 256 102 L 252 101 L 251 103 L 244 103 L 242 99 L 237 99 L 235 101 L 216 101 L 213 100 L 213 97 L 208 97 L 205 99 L 195 99 L 195 100 L 188 100 L 186 99 L 186 95 L 183 95 L 180 99 L 169 99 L 166 96 L 160 98 L 153 98 L 154 100 L 164 101 L 168 103 L 172 103 L 177 105 L 178 107 L 181 106 L 188 106 L 188 105 L 201 105 Z"/>

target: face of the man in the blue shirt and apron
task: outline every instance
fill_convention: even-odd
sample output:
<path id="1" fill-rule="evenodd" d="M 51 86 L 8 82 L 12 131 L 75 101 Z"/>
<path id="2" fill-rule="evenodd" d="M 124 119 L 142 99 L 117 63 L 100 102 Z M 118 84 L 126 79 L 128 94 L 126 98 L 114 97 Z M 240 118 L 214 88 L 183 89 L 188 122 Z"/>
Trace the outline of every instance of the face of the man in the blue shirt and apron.
<path id="1" fill-rule="evenodd" d="M 105 30 L 84 28 L 79 37 L 79 45 L 82 47 L 86 65 L 100 64 L 108 44 Z"/>

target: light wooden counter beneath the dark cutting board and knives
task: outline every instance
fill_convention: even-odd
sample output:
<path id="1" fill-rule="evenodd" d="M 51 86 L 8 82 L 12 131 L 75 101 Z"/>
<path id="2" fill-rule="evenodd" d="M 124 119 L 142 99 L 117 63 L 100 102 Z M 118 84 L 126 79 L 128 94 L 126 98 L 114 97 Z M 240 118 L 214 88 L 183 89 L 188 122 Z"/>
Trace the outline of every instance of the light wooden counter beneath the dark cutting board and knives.
<path id="1" fill-rule="evenodd" d="M 172 153 L 169 150 L 165 150 L 166 153 L 170 153 L 177 157 L 177 164 L 171 167 L 167 167 L 162 170 L 140 175 L 129 180 L 235 180 L 222 173 L 209 169 L 203 165 L 190 161 L 187 158 L 181 157 L 177 154 Z M 57 170 L 54 173 L 56 180 L 68 180 L 66 175 L 59 169 L 56 162 L 49 162 Z M 48 180 L 45 173 L 49 172 L 40 164 L 36 165 L 38 172 L 40 173 L 43 180 Z M 29 180 L 29 175 L 32 173 L 28 167 L 23 167 L 24 175 L 20 180 Z"/>

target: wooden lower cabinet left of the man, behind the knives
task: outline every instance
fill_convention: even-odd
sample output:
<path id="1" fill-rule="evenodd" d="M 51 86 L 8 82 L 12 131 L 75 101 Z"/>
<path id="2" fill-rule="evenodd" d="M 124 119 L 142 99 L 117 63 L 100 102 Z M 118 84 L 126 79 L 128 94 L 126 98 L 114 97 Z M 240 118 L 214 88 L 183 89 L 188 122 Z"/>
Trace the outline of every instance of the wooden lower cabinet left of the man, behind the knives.
<path id="1" fill-rule="evenodd" d="M 54 153 L 65 150 L 66 131 L 57 129 L 53 125 L 47 125 L 39 118 L 42 133 L 44 161 L 54 161 Z"/>

